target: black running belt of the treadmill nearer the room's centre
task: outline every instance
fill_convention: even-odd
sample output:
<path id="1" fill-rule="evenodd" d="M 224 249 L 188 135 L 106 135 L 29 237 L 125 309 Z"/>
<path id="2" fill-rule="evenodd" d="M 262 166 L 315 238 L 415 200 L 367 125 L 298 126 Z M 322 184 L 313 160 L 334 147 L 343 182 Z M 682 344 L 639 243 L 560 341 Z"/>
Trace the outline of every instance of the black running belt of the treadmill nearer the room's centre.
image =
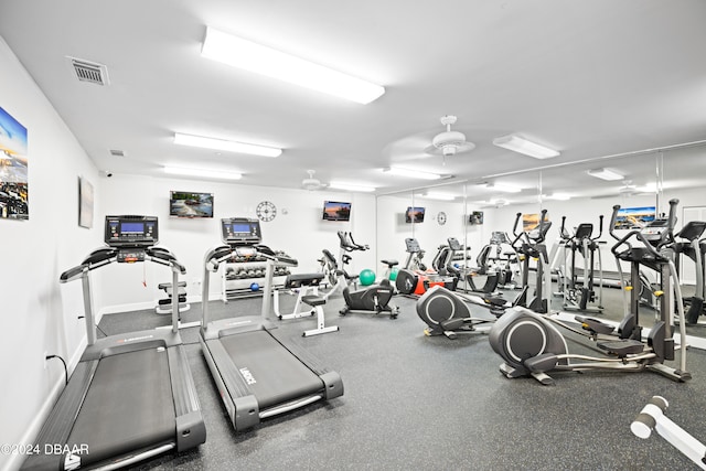
<path id="1" fill-rule="evenodd" d="M 323 388 L 319 376 L 267 331 L 223 336 L 221 343 L 248 383 L 260 410 Z"/>

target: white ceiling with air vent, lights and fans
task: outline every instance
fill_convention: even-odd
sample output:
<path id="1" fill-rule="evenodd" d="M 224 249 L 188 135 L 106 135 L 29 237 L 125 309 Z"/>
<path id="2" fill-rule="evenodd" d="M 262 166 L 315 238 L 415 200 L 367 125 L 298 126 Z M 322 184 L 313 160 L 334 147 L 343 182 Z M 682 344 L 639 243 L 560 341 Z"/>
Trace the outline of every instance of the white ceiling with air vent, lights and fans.
<path id="1" fill-rule="evenodd" d="M 378 193 L 426 183 L 384 174 L 391 164 L 513 182 L 527 194 L 536 178 L 517 172 L 546 165 L 555 168 L 543 172 L 545 193 L 617 192 L 621 182 L 584 171 L 607 164 L 638 185 L 654 181 L 654 153 L 601 158 L 706 139 L 705 24 L 703 0 L 0 2 L 0 35 L 99 169 L 229 170 L 244 173 L 238 184 L 279 188 L 300 188 L 313 169 Z M 386 93 L 357 105 L 208 61 L 200 55 L 206 25 Z M 110 84 L 79 82 L 66 56 L 105 64 Z M 477 144 L 446 162 L 424 152 L 443 115 L 458 116 L 453 129 Z M 217 154 L 175 146 L 174 132 L 285 151 Z M 511 132 L 561 156 L 492 146 Z M 667 178 L 703 184 L 693 175 L 704 149 L 665 152 Z M 474 197 L 486 193 L 479 186 Z"/>

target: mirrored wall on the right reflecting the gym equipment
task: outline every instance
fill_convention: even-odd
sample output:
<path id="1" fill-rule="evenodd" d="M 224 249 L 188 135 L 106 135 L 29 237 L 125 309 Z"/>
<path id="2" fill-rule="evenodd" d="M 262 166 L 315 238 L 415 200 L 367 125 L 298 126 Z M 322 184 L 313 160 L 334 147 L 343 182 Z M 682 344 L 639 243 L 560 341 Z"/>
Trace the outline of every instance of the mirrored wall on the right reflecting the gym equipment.
<path id="1" fill-rule="evenodd" d="M 377 196 L 377 256 L 407 259 L 405 239 L 414 237 L 431 263 L 440 245 L 456 237 L 469 251 L 468 265 L 494 232 L 513 238 L 516 214 L 532 218 L 547 210 L 553 226 L 546 245 L 559 263 L 557 246 L 560 226 L 566 231 L 592 223 L 593 236 L 602 234 L 601 258 L 606 277 L 617 278 L 618 267 L 610 253 L 610 217 L 614 205 L 622 208 L 654 207 L 657 216 L 668 211 L 668 201 L 678 199 L 677 228 L 689 220 L 706 221 L 706 146 L 704 142 L 670 149 L 628 152 L 586 159 L 575 163 L 553 163 L 541 169 L 503 175 L 484 175 L 462 182 L 420 186 Z M 602 178 L 600 178 L 602 176 Z M 609 178 L 612 180 L 605 180 Z M 522 231 L 522 220 L 516 227 Z M 689 265 L 691 264 L 691 265 Z M 693 263 L 683 264 L 683 282 L 693 283 Z M 560 309 L 559 306 L 553 306 Z"/>

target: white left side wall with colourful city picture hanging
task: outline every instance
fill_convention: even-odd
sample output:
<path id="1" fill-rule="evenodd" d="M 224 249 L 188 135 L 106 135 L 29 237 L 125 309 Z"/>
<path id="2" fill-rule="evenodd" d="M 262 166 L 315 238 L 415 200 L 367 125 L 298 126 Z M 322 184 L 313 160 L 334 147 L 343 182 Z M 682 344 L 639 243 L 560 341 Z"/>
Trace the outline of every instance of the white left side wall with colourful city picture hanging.
<path id="1" fill-rule="evenodd" d="M 96 229 L 78 227 L 78 176 L 100 189 L 96 168 L 2 39 L 0 69 L 0 106 L 28 129 L 30 202 L 29 221 L 0 220 L 0 443 L 28 443 L 64 377 L 57 360 L 44 368 L 45 354 L 68 361 L 83 349 L 81 290 L 58 276 L 99 242 Z M 0 469 L 19 462 L 0 454 Z"/>

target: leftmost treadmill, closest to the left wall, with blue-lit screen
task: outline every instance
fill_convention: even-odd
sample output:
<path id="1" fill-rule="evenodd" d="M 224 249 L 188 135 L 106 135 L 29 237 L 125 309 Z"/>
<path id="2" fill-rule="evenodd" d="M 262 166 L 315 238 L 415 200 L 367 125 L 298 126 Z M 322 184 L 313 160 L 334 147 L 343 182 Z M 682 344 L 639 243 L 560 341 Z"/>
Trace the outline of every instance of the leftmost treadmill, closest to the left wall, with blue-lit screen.
<path id="1" fill-rule="evenodd" d="M 179 335 L 178 303 L 172 329 L 96 339 L 90 271 L 111 263 L 153 261 L 172 270 L 172 286 L 185 269 L 156 247 L 158 221 L 106 216 L 105 242 L 61 282 L 83 283 L 87 346 L 36 438 L 39 454 L 23 470 L 117 469 L 206 439 L 194 381 Z"/>

